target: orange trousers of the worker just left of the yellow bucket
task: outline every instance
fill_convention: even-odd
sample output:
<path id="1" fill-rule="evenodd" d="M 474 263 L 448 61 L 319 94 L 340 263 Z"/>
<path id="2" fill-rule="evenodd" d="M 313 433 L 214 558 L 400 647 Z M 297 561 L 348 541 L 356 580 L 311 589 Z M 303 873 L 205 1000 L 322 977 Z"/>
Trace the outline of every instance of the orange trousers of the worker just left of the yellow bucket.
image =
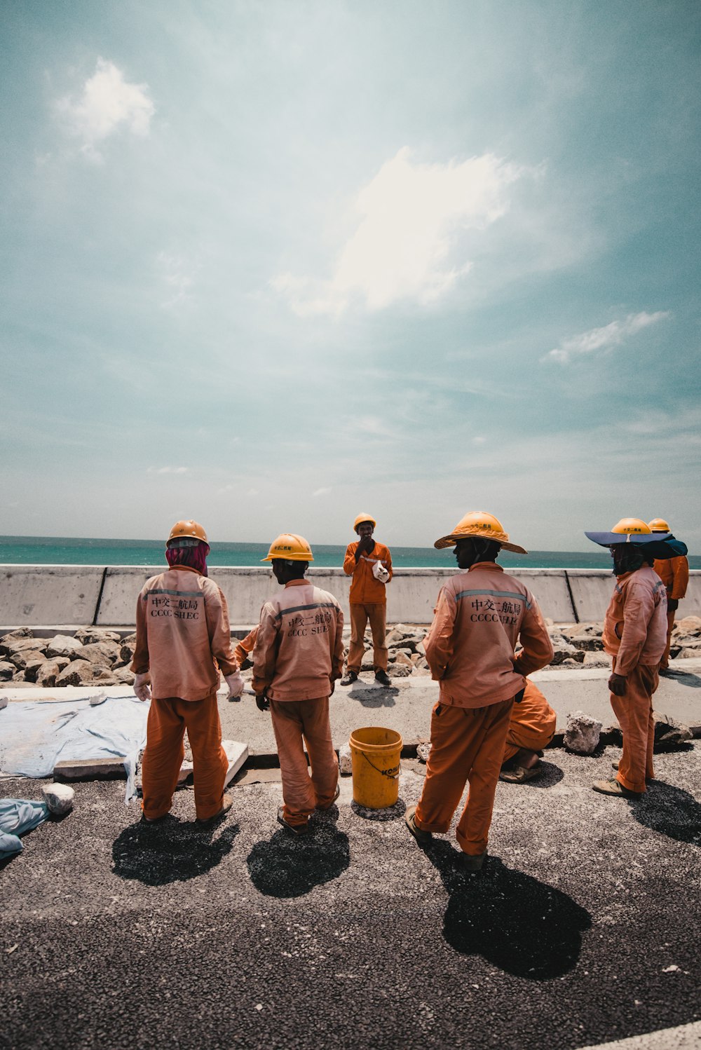
<path id="1" fill-rule="evenodd" d="M 283 817 L 289 824 L 305 824 L 318 807 L 334 801 L 338 759 L 331 738 L 328 697 L 313 700 L 271 700 L 273 730 L 282 774 Z M 310 756 L 312 775 L 304 755 Z"/>

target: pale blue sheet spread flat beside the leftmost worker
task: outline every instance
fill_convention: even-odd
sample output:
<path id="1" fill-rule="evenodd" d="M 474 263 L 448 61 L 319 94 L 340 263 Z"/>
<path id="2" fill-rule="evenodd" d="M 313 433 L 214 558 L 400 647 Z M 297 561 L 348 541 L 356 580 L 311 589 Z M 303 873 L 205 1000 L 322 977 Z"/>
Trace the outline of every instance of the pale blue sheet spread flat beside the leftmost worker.
<path id="1" fill-rule="evenodd" d="M 57 762 L 124 757 L 126 802 L 134 797 L 139 752 L 146 744 L 149 705 L 110 696 L 91 708 L 89 696 L 49 702 L 20 700 L 0 711 L 0 770 L 10 776 L 50 777 Z"/>

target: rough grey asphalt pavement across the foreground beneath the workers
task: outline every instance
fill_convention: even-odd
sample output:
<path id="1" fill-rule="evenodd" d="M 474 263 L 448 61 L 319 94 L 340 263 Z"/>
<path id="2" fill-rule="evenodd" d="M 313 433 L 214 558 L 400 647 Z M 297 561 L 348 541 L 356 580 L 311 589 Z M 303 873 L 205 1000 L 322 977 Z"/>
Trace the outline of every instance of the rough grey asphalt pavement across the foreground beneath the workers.
<path id="1" fill-rule="evenodd" d="M 235 785 L 213 832 L 188 791 L 149 827 L 123 783 L 79 783 L 0 869 L 0 1042 L 570 1050 L 697 1022 L 701 741 L 635 802 L 591 791 L 617 757 L 553 750 L 500 783 L 481 877 L 452 833 L 408 835 L 415 763 L 385 819 L 344 779 L 307 840 L 276 824 L 279 783 Z"/>

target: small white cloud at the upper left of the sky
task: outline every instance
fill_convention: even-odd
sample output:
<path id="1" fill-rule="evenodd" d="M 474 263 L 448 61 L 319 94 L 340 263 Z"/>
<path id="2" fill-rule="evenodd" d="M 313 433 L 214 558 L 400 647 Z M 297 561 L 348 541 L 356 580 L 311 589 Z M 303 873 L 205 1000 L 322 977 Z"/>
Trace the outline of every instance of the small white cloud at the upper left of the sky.
<path id="1" fill-rule="evenodd" d="M 80 98 L 60 99 L 57 109 L 82 140 L 81 152 L 92 161 L 102 160 L 98 146 L 121 127 L 146 136 L 154 112 L 148 85 L 127 83 L 113 62 L 100 58 Z"/>

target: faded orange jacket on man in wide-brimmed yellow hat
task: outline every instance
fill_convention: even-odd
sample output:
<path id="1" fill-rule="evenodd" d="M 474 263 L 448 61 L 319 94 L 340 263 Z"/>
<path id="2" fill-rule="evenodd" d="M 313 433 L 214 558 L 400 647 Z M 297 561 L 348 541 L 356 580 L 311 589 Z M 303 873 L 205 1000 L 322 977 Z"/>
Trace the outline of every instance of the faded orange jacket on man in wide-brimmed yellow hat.
<path id="1" fill-rule="evenodd" d="M 514 660 L 516 639 L 523 652 Z M 494 562 L 451 576 L 424 638 L 441 704 L 483 708 L 515 696 L 524 676 L 549 664 L 553 647 L 528 587 Z"/>

